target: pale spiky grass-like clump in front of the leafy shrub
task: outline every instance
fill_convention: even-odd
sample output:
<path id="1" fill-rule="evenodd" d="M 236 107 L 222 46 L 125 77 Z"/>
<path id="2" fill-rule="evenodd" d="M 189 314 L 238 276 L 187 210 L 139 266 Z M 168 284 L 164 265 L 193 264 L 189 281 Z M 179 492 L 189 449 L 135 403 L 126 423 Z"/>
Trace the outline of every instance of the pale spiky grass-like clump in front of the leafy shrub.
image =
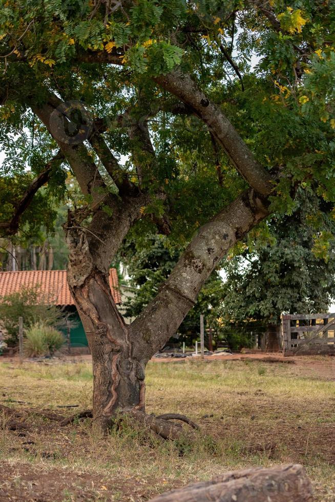
<path id="1" fill-rule="evenodd" d="M 27 357 L 30 358 L 53 355 L 64 342 L 64 335 L 60 331 L 39 322 L 27 330 L 24 339 L 24 351 Z"/>

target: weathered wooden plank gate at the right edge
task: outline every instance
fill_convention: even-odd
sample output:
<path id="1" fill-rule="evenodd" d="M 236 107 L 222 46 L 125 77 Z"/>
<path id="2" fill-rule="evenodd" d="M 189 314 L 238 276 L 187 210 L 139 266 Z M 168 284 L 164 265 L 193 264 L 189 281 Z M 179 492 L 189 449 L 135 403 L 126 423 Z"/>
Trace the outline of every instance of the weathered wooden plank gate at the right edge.
<path id="1" fill-rule="evenodd" d="M 283 314 L 284 355 L 335 354 L 335 313 Z"/>

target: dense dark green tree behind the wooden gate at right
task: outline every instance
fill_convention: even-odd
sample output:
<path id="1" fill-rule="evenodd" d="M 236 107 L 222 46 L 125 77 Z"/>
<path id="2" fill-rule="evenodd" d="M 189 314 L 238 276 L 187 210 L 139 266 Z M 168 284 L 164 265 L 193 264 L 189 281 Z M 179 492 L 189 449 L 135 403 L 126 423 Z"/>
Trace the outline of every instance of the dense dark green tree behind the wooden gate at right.
<path id="1" fill-rule="evenodd" d="M 317 201 L 311 195 L 306 199 L 305 194 L 297 199 L 299 206 L 292 216 L 269 221 L 266 240 L 245 242 L 241 254 L 224 262 L 222 317 L 239 329 L 267 331 L 269 349 L 279 348 L 283 312 L 326 312 L 335 297 L 333 238 L 327 241 L 325 260 L 320 246 L 313 245 L 315 230 L 308 216 L 312 201 Z M 326 211 L 323 215 L 322 227 L 334 235 L 332 215 Z"/>

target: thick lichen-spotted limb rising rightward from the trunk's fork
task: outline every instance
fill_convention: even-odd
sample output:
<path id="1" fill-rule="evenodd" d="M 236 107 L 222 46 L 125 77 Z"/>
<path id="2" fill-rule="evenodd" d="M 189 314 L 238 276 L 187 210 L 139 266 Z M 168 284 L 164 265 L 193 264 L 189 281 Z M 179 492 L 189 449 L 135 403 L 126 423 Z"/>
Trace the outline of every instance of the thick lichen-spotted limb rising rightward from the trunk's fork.
<path id="1" fill-rule="evenodd" d="M 237 240 L 268 215 L 267 205 L 249 189 L 200 228 L 156 298 L 132 323 L 142 362 L 176 332 L 212 270 Z"/>

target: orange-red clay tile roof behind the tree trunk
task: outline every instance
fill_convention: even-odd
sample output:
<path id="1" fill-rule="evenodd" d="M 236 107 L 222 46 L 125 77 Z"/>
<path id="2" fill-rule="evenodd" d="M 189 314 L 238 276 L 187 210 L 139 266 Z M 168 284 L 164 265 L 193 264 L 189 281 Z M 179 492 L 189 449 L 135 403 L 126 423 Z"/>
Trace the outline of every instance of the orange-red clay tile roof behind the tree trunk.
<path id="1" fill-rule="evenodd" d="M 0 272 L 0 297 L 19 291 L 23 286 L 40 286 L 41 291 L 52 298 L 55 305 L 74 305 L 66 279 L 66 270 L 19 270 Z M 121 303 L 118 277 L 115 268 L 110 268 L 109 284 L 115 303 Z"/>

